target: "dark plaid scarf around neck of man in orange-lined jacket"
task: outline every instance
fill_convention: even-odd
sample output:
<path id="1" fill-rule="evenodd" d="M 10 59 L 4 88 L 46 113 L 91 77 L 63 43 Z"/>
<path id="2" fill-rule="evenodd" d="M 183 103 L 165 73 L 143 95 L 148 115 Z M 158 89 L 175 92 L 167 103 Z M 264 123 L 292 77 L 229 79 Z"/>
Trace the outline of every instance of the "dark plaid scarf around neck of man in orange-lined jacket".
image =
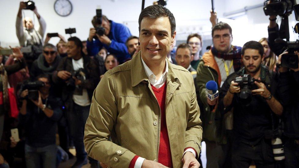
<path id="1" fill-rule="evenodd" d="M 232 48 L 233 48 L 233 50 L 231 50 L 229 53 L 220 53 L 213 46 L 211 48 L 211 51 L 212 51 L 213 55 L 218 58 L 222 58 L 224 60 L 233 60 L 233 67 L 235 69 L 235 72 L 237 72 L 243 66 L 243 63 L 241 61 L 242 60 L 241 59 L 242 47 L 232 46 Z"/>

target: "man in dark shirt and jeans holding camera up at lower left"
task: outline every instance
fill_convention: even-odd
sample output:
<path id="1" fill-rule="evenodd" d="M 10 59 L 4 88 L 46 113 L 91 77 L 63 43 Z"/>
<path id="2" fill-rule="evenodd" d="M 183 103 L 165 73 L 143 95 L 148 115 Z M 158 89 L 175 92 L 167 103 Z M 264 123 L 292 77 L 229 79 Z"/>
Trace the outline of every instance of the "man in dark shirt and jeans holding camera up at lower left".
<path id="1" fill-rule="evenodd" d="M 28 89 L 22 91 L 20 125 L 25 128 L 25 160 L 27 167 L 56 166 L 56 129 L 57 121 L 62 115 L 61 99 L 50 92 L 50 76 L 42 74 L 36 78 L 44 86 L 38 89 L 34 98 Z"/>

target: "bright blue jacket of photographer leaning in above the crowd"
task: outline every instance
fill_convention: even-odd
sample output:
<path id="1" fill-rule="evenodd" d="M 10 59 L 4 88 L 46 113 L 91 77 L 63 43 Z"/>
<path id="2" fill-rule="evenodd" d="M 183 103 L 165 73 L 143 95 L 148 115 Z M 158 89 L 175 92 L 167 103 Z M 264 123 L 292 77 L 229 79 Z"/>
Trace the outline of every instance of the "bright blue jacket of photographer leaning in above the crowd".
<path id="1" fill-rule="evenodd" d="M 108 35 L 111 39 L 110 46 L 103 44 L 99 39 L 93 39 L 92 42 L 87 40 L 87 52 L 89 55 L 95 56 L 102 47 L 105 47 L 108 52 L 116 54 L 119 62 L 123 62 L 127 58 L 130 58 L 128 53 L 126 41 L 131 36 L 129 28 L 120 23 L 110 21 L 110 33 Z"/>

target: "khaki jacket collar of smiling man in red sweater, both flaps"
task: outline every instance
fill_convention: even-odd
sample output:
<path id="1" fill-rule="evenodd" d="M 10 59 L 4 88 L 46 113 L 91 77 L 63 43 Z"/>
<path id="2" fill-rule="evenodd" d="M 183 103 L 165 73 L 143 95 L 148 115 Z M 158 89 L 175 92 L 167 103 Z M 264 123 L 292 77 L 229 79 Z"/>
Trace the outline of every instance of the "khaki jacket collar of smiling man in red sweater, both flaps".
<path id="1" fill-rule="evenodd" d="M 166 60 L 168 63 L 168 75 L 166 81 L 171 80 L 172 82 L 181 84 L 168 58 L 166 58 Z M 141 51 L 139 51 L 131 60 L 131 86 L 137 86 L 142 81 L 147 81 L 147 83 L 149 83 L 144 66 L 142 65 Z"/>

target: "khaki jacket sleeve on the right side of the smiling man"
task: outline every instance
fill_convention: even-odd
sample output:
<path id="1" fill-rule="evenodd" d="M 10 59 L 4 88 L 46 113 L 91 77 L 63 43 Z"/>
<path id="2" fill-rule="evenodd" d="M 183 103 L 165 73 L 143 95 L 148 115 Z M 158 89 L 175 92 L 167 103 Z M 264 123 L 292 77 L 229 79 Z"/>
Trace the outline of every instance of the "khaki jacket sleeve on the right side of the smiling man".
<path id="1" fill-rule="evenodd" d="M 191 91 L 191 105 L 190 111 L 188 115 L 187 121 L 187 129 L 185 134 L 185 149 L 186 148 L 193 148 L 195 149 L 196 153 L 199 154 L 201 151 L 201 141 L 202 141 L 202 127 L 201 127 L 201 120 L 200 120 L 200 110 L 196 100 L 196 92 L 195 92 L 195 85 L 193 82 L 193 77 L 190 74 L 190 80 L 192 80 L 190 86 L 192 88 Z M 199 155 L 197 155 L 199 157 Z"/>

